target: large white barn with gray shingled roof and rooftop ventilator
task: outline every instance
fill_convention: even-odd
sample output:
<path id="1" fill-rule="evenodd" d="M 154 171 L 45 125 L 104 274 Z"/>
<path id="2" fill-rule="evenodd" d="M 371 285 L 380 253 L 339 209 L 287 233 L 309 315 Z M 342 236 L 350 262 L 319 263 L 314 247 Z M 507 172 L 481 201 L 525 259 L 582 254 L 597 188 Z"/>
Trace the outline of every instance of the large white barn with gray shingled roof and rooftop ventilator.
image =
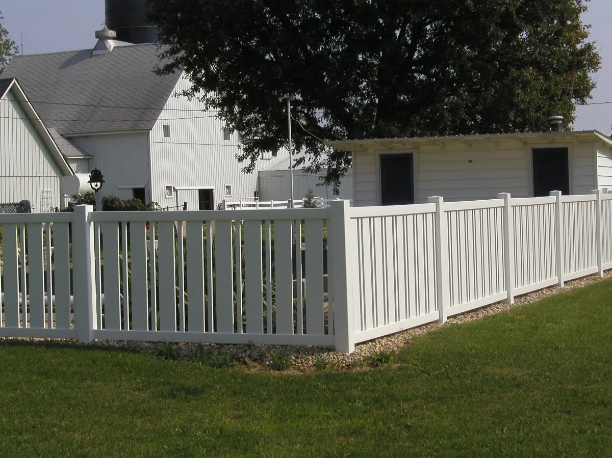
<path id="1" fill-rule="evenodd" d="M 3 73 L 19 78 L 75 172 L 98 168 L 103 195 L 162 207 L 186 201 L 205 210 L 225 197 L 255 197 L 258 171 L 284 152 L 264 154 L 244 174 L 238 133 L 198 100 L 177 96 L 189 87 L 184 75 L 155 75 L 157 45 L 119 42 L 108 29 L 96 36 L 93 50 L 13 57 Z"/>

